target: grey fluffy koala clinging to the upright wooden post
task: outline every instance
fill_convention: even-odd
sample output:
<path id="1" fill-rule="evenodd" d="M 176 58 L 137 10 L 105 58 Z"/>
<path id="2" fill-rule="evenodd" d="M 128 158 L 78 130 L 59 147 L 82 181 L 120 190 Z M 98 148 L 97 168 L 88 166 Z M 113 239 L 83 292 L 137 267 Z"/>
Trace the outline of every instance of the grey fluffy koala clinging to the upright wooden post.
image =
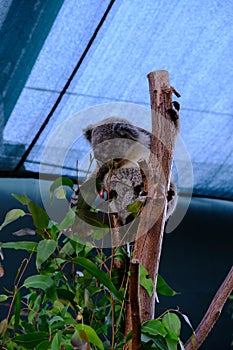
<path id="1" fill-rule="evenodd" d="M 171 119 L 178 134 L 179 121 L 176 113 L 172 109 Z M 127 206 L 136 200 L 146 200 L 140 163 L 148 162 L 151 133 L 127 119 L 117 117 L 91 124 L 83 132 L 92 145 L 97 162 L 97 169 L 91 176 L 102 183 L 99 194 L 104 198 L 104 193 L 107 193 L 110 211 L 117 214 L 120 222 L 125 224 L 130 217 Z M 176 185 L 171 182 L 167 194 L 166 219 L 174 212 L 177 198 Z"/>

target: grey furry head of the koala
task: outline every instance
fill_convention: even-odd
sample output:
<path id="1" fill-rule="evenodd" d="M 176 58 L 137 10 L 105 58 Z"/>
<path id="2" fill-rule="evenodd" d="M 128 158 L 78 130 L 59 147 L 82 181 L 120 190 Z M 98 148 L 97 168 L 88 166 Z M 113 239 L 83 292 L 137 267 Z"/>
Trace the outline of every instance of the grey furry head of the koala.
<path id="1" fill-rule="evenodd" d="M 141 129 L 127 119 L 107 118 L 89 125 L 84 130 L 86 139 L 91 143 L 95 158 L 106 162 L 110 159 L 124 159 L 129 148 L 135 142 L 150 148 L 150 133 Z"/>

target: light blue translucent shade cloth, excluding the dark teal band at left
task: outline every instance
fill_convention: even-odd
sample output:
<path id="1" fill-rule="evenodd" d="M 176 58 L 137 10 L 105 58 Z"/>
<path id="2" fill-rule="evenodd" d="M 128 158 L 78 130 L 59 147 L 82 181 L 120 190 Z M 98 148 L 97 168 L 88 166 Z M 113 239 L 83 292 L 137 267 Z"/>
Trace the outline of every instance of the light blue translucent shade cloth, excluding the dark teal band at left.
<path id="1" fill-rule="evenodd" d="M 76 115 L 74 125 L 59 139 L 51 164 L 44 168 L 59 174 L 59 149 L 67 147 L 66 139 L 77 130 L 78 141 L 67 150 L 63 164 L 63 173 L 75 176 L 76 160 L 82 164 L 89 152 L 81 130 L 104 116 L 82 111 L 111 103 L 136 104 L 149 111 L 147 74 L 166 69 L 171 85 L 182 95 L 181 137 L 193 165 L 194 193 L 233 199 L 233 2 L 116 0 L 111 7 L 109 4 L 64 1 L 4 127 L 3 141 L 21 145 L 20 159 L 85 52 L 24 164 L 28 171 L 40 171 L 41 157 L 56 127 Z M 145 117 L 126 114 L 150 129 L 149 112 Z M 176 157 L 180 157 L 179 150 Z M 17 162 L 12 157 L 11 167 L 14 165 Z M 183 169 L 185 174 L 185 165 Z M 180 190 L 186 191 L 185 184 Z"/>

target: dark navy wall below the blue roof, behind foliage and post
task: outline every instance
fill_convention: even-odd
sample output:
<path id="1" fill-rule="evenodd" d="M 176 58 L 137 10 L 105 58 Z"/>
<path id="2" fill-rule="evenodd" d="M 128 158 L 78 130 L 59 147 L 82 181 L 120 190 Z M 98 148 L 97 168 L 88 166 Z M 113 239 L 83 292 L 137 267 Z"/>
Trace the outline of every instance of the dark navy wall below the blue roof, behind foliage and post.
<path id="1" fill-rule="evenodd" d="M 48 183 L 49 185 L 49 183 Z M 37 203 L 41 202 L 38 181 L 33 179 L 0 179 L 0 222 L 6 212 L 19 208 L 11 193 L 27 193 Z M 177 210 L 182 210 L 180 199 Z M 12 232 L 30 226 L 29 218 L 22 218 L 0 231 L 0 241 L 16 238 Z M 168 308 L 179 307 L 188 315 L 194 328 L 202 319 L 214 294 L 221 285 L 233 263 L 233 203 L 221 200 L 193 198 L 189 210 L 179 226 L 165 234 L 161 257 L 160 274 L 181 294 L 175 297 L 160 297 L 158 314 Z M 25 240 L 27 237 L 23 237 Z M 32 237 L 28 237 L 29 240 Z M 21 251 L 5 250 L 5 276 L 0 279 L 3 287 L 11 289 L 20 260 L 26 256 Z M 30 273 L 30 272 L 29 272 Z M 32 273 L 32 272 L 31 272 Z M 0 304 L 0 319 L 5 310 Z M 183 324 L 183 340 L 191 335 Z M 230 302 L 201 350 L 230 350 L 233 341 L 233 320 Z"/>

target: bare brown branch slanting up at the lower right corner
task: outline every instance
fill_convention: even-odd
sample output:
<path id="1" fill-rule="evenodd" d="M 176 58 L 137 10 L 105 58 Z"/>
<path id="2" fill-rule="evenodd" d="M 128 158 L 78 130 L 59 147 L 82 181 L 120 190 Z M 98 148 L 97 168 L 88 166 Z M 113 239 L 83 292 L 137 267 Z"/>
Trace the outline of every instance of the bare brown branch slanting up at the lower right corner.
<path id="1" fill-rule="evenodd" d="M 222 308 L 233 290 L 233 267 L 223 281 L 221 287 L 215 294 L 205 316 L 195 331 L 185 344 L 185 350 L 197 350 L 200 348 L 215 322 L 219 318 Z"/>

